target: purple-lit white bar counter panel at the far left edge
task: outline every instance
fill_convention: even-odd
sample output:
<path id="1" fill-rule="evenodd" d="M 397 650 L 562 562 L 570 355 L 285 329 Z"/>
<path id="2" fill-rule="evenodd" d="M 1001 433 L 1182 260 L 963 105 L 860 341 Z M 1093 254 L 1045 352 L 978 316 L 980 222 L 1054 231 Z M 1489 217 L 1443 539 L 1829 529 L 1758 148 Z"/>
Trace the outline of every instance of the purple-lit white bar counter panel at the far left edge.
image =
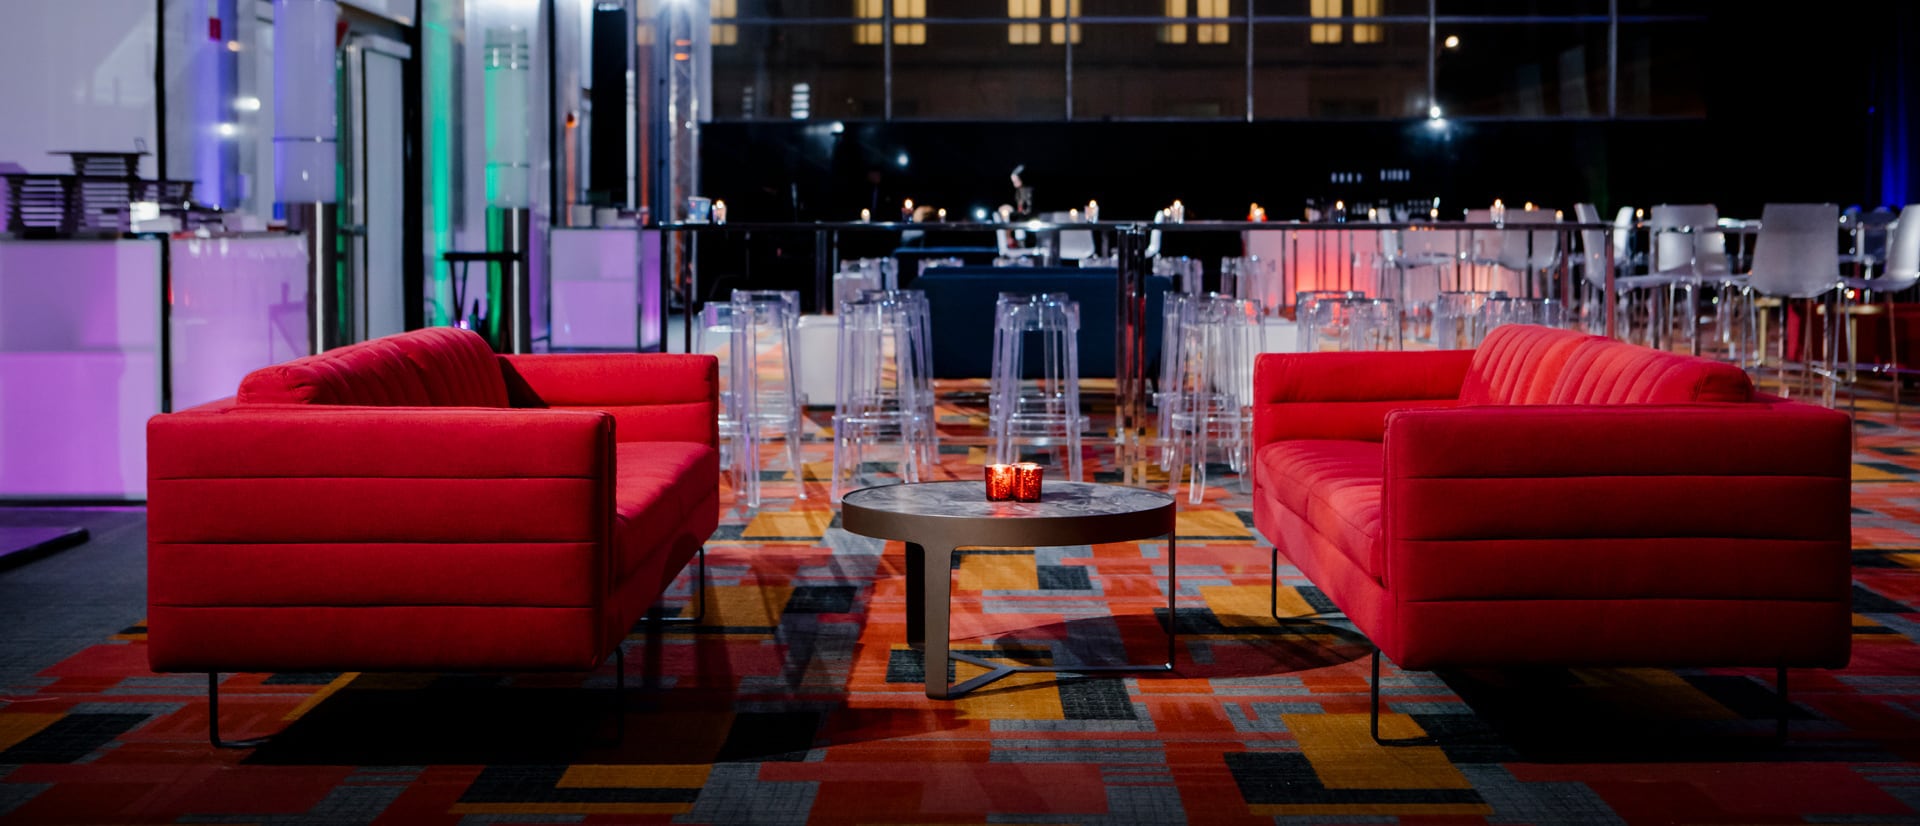
<path id="1" fill-rule="evenodd" d="M 146 498 L 159 242 L 0 240 L 0 498 Z"/>

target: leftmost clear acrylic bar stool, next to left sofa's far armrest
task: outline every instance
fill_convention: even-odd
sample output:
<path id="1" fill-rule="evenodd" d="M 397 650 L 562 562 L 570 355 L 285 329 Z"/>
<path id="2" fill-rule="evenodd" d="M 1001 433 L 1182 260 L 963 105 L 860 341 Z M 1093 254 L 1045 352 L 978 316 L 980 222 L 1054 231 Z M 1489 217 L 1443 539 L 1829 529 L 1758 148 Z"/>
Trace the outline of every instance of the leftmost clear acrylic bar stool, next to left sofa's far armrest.
<path id="1" fill-rule="evenodd" d="M 801 294 L 793 290 L 733 290 L 733 321 L 741 328 L 739 346 L 730 365 L 743 365 L 741 377 L 749 390 L 751 440 L 768 438 L 787 444 L 787 469 L 793 471 L 795 496 L 806 498 L 806 465 L 801 461 L 804 438 L 806 396 L 799 388 L 795 352 L 801 325 Z M 758 448 L 755 448 L 758 453 Z M 755 465 L 758 476 L 758 465 Z M 758 484 L 755 484 L 758 488 Z M 758 501 L 755 501 L 758 505 Z"/>

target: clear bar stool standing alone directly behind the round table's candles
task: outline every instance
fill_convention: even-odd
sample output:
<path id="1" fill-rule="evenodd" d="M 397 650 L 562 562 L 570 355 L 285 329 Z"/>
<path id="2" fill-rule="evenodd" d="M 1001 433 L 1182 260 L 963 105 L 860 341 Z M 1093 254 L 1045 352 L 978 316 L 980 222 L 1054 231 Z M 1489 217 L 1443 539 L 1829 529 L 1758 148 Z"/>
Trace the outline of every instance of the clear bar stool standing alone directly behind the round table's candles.
<path id="1" fill-rule="evenodd" d="M 993 392 L 987 430 L 995 461 L 1016 461 L 1014 440 L 1066 448 L 1068 476 L 1081 480 L 1079 304 L 1064 292 L 1002 292 L 995 304 Z M 1027 380 L 1029 346 L 1039 369 Z"/>

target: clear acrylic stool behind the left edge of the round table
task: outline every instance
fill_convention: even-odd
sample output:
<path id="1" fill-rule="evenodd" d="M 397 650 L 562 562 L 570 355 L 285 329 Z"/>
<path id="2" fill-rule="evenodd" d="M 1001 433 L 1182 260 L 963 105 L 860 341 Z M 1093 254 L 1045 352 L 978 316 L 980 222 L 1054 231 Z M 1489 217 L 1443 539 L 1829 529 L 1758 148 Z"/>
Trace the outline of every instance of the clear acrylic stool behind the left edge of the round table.
<path id="1" fill-rule="evenodd" d="M 935 457 L 927 300 L 918 290 L 866 290 L 839 305 L 833 405 L 833 501 L 860 484 L 868 449 L 899 446 L 900 480 Z"/>

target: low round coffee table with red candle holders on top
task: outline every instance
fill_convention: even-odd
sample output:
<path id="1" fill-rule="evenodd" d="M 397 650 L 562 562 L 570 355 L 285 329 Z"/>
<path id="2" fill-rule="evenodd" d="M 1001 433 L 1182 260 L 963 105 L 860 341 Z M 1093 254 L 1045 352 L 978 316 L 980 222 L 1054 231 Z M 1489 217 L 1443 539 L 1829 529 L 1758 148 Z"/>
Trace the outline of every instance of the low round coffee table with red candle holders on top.
<path id="1" fill-rule="evenodd" d="M 1092 674 L 1173 670 L 1173 597 L 1179 557 L 1173 547 L 1173 498 L 1119 484 L 1046 482 L 1041 501 L 987 501 L 981 482 L 918 482 L 862 488 L 841 498 L 841 526 L 860 536 L 906 542 L 906 642 L 924 651 L 927 697 L 960 697 L 1020 672 Z M 1091 546 L 1167 538 L 1167 661 L 1154 665 L 1039 667 L 1000 665 L 950 651 L 952 557 L 975 546 Z M 958 686 L 945 663 L 958 659 L 991 668 Z"/>

